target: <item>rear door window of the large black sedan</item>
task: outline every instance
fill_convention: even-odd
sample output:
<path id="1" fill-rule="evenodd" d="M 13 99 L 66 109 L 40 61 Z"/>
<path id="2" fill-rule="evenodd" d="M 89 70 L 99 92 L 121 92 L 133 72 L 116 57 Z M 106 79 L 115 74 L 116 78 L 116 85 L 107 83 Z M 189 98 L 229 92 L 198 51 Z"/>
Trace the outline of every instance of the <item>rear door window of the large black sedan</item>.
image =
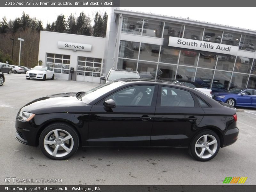
<path id="1" fill-rule="evenodd" d="M 167 107 L 194 107 L 195 102 L 188 91 L 162 87 L 160 105 Z"/>

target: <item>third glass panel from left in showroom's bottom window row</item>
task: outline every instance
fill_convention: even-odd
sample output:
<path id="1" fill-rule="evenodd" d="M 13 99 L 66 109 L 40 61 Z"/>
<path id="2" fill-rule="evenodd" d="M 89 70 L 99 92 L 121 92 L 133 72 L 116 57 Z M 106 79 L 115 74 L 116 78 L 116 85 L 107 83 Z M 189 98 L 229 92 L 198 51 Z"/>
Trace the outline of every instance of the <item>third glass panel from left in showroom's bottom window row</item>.
<path id="1" fill-rule="evenodd" d="M 157 79 L 171 81 L 175 79 L 177 66 L 159 63 L 157 69 Z"/>

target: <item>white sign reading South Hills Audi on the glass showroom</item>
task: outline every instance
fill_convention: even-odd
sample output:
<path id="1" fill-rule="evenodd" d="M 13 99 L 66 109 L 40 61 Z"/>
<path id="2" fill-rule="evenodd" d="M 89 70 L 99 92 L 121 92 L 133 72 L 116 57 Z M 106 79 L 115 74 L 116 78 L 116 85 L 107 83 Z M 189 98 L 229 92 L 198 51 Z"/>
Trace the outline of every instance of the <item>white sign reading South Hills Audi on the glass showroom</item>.
<path id="1" fill-rule="evenodd" d="M 207 41 L 198 41 L 193 39 L 184 39 L 179 37 L 169 37 L 169 46 L 185 49 L 195 49 L 199 51 L 215 52 L 228 55 L 236 55 L 237 46 L 212 43 Z"/>

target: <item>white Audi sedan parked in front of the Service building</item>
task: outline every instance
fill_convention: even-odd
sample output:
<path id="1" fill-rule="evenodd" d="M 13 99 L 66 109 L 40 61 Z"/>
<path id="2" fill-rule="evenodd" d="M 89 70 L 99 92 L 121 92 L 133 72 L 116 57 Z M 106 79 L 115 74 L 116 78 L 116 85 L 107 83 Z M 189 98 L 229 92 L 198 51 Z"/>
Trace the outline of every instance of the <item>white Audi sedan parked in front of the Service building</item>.
<path id="1" fill-rule="evenodd" d="M 54 71 L 50 67 L 36 66 L 26 72 L 26 79 L 54 79 Z"/>

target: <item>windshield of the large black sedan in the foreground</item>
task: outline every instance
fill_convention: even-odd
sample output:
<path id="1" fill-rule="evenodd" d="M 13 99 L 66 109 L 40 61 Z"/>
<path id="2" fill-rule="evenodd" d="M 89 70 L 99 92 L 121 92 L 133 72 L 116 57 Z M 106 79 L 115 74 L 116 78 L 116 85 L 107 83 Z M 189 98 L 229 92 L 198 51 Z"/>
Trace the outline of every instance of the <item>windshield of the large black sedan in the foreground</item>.
<path id="1" fill-rule="evenodd" d="M 123 85 L 124 83 L 120 81 L 112 81 L 108 82 L 106 84 L 100 85 L 98 87 L 95 87 L 94 89 L 91 89 L 88 92 L 85 92 L 81 95 L 82 101 L 84 103 L 90 103 L 91 101 L 99 98 L 100 96 L 104 95 L 105 93 Z"/>

